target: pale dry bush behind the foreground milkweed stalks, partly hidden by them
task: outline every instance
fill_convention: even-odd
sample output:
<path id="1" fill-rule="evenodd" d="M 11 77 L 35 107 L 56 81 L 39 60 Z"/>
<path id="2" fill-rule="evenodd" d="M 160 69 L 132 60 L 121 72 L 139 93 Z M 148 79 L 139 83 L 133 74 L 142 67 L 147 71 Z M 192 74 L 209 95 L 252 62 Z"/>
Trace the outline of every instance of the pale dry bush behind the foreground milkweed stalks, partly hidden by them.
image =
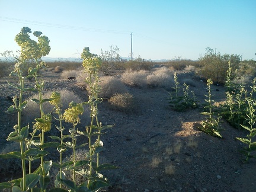
<path id="1" fill-rule="evenodd" d="M 76 95 L 74 92 L 69 91 L 68 89 L 62 89 L 62 90 L 56 90 L 60 93 L 60 101 L 62 103 L 62 113 L 65 109 L 69 107 L 69 103 L 71 101 L 75 103 L 82 103 L 82 100 Z M 43 98 L 50 98 L 52 95 L 52 91 L 44 92 Z M 31 99 L 36 98 L 39 99 L 39 94 L 34 94 L 30 97 Z M 51 105 L 49 102 L 43 103 L 43 111 L 45 114 L 50 113 L 53 110 L 53 105 Z M 88 114 L 89 116 L 89 110 L 88 108 L 85 108 L 85 114 Z M 82 115 L 84 117 L 85 115 Z M 39 104 L 34 103 L 31 100 L 28 100 L 27 106 L 23 111 L 23 123 L 31 123 L 34 121 L 35 118 L 40 117 L 40 108 Z M 89 117 L 88 117 L 89 118 Z M 84 123 L 84 120 L 88 119 L 81 119 L 81 123 Z"/>

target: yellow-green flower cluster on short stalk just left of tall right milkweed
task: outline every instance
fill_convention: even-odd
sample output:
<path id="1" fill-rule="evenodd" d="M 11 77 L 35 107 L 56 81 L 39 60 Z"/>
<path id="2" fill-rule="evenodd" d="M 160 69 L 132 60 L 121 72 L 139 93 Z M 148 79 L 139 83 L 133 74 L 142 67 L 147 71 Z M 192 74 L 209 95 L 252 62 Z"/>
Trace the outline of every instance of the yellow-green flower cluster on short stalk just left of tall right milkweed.
<path id="1" fill-rule="evenodd" d="M 63 113 L 63 119 L 69 123 L 78 123 L 80 121 L 79 115 L 84 113 L 84 107 L 82 104 L 76 104 L 74 102 L 69 103 L 69 108 Z"/>

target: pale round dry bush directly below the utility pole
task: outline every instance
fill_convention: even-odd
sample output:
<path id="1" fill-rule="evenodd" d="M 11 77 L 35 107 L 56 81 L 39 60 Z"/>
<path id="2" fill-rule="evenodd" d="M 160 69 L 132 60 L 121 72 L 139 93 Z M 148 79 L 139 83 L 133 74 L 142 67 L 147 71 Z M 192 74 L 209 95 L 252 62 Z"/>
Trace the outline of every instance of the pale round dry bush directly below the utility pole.
<path id="1" fill-rule="evenodd" d="M 146 87 L 148 73 L 144 70 L 132 71 L 127 70 L 121 76 L 122 81 L 129 86 Z"/>

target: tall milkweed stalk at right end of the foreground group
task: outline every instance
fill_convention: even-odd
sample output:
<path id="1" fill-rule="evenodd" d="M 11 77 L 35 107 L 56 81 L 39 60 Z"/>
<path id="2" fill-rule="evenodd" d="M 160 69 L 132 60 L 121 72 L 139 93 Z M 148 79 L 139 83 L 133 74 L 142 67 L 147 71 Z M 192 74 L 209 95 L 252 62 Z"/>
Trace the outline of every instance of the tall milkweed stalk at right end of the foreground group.
<path id="1" fill-rule="evenodd" d="M 88 104 L 91 110 L 91 123 L 86 127 L 85 132 L 78 132 L 88 137 L 89 145 L 89 151 L 85 156 L 85 159 L 89 161 L 88 174 L 84 172 L 81 172 L 81 174 L 88 178 L 87 187 L 90 190 L 96 190 L 97 188 L 107 187 L 109 185 L 107 178 L 104 178 L 100 174 L 100 171 L 102 169 L 116 168 L 109 164 L 100 165 L 100 152 L 103 151 L 103 142 L 101 141 L 102 131 L 113 126 L 102 126 L 98 120 L 98 104 L 102 101 L 102 98 L 98 96 L 100 92 L 98 72 L 101 66 L 101 60 L 97 55 L 89 52 L 89 47 L 84 48 L 81 57 L 84 59 L 82 65 L 84 66 L 85 73 L 88 74 L 86 82 L 90 90 L 88 102 L 85 102 L 85 104 Z M 93 137 L 97 137 L 95 142 L 92 141 Z"/>

